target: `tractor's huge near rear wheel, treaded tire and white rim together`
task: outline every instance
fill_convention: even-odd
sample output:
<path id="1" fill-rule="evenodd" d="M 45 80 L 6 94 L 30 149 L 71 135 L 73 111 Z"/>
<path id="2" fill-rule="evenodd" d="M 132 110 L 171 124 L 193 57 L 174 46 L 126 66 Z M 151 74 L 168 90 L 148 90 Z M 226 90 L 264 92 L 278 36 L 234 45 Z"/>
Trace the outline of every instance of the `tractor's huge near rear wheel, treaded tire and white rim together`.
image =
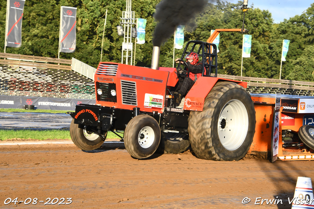
<path id="1" fill-rule="evenodd" d="M 188 118 L 192 150 L 201 159 L 238 161 L 251 146 L 255 123 L 250 94 L 236 83 L 218 82 L 203 111 L 192 111 Z"/>

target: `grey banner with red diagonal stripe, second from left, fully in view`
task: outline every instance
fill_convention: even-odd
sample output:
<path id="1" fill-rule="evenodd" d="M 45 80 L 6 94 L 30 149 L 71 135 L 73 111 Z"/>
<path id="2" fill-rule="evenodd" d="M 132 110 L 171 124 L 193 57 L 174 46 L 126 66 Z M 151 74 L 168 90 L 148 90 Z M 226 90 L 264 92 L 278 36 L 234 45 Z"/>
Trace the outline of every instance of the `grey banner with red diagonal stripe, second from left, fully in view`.
<path id="1" fill-rule="evenodd" d="M 77 8 L 61 6 L 60 17 L 60 52 L 73 53 L 76 48 Z"/>

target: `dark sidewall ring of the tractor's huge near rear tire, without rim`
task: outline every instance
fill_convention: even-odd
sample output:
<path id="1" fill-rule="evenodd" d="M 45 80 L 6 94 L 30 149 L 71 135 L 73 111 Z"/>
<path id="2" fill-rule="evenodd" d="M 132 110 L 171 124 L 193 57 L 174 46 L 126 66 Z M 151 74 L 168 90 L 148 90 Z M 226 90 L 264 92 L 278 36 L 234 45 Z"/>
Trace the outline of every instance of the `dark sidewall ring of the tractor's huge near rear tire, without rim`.
<path id="1" fill-rule="evenodd" d="M 243 143 L 236 150 L 227 150 L 220 142 L 218 136 L 218 120 L 219 115 L 229 101 L 237 99 L 242 102 L 248 114 L 248 131 Z M 255 109 L 252 102 L 251 96 L 245 91 L 239 91 L 239 88 L 232 88 L 224 93 L 219 101 L 217 102 L 216 108 L 213 112 L 212 123 L 211 123 L 211 133 L 212 133 L 212 143 L 217 155 L 224 159 L 225 161 L 239 160 L 245 156 L 249 150 L 252 139 L 255 132 Z"/>

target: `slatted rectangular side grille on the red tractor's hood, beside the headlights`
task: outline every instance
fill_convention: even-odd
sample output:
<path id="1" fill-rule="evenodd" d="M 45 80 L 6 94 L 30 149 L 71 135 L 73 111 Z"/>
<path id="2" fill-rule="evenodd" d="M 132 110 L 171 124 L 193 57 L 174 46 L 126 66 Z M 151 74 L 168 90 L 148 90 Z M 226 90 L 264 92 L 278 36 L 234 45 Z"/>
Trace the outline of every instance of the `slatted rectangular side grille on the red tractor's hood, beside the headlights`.
<path id="1" fill-rule="evenodd" d="M 122 104 L 137 105 L 136 82 L 121 80 Z"/>

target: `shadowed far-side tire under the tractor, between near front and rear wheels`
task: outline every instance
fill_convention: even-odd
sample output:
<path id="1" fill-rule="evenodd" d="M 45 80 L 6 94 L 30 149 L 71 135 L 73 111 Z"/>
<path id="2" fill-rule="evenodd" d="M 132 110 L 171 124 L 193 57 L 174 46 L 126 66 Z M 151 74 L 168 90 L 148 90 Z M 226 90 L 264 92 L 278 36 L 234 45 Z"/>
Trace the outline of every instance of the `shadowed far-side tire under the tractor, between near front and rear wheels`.
<path id="1" fill-rule="evenodd" d="M 180 133 L 166 133 L 160 141 L 166 153 L 182 153 L 190 146 L 188 135 Z"/>

